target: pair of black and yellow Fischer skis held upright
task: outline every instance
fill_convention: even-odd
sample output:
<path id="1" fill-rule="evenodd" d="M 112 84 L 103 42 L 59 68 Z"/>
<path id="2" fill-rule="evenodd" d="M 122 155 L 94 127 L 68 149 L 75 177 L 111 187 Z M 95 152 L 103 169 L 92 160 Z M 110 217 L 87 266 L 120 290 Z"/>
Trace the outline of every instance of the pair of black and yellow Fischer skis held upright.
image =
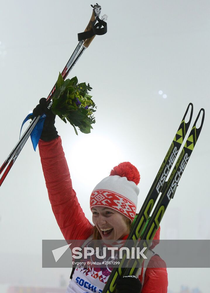
<path id="1" fill-rule="evenodd" d="M 125 242 L 125 247 L 131 247 L 130 242 L 132 241 L 132 246 L 139 247 L 139 251 L 142 251 L 142 249 L 146 248 L 146 250 L 144 251 L 144 254 L 146 255 L 149 246 L 152 243 L 154 235 L 159 228 L 161 219 L 163 218 L 166 208 L 168 207 L 171 198 L 173 198 L 174 196 L 175 190 L 178 186 L 178 182 L 185 170 L 187 162 L 190 158 L 190 155 L 192 154 L 192 151 L 203 126 L 205 111 L 202 108 L 197 115 L 197 118 L 194 122 L 194 125 L 192 126 L 187 141 L 183 146 L 180 156 L 176 161 L 175 158 L 183 144 L 183 140 L 187 134 L 187 130 L 190 127 L 192 113 L 193 105 L 192 103 L 190 103 L 180 123 L 178 131 L 175 134 L 173 142 L 168 149 L 166 157 L 163 160 L 163 163 L 161 164 L 161 167 L 155 177 L 149 193 L 142 205 L 142 208 L 140 209 L 136 221 L 132 226 L 130 234 L 128 235 L 128 238 Z M 186 122 L 186 117 L 189 115 L 189 121 Z M 200 120 L 201 122 L 198 122 L 198 120 Z M 197 123 L 200 124 L 199 127 L 197 127 Z M 175 166 L 171 172 L 168 181 L 166 181 L 166 178 L 174 163 Z M 147 219 L 149 218 L 150 213 L 152 212 L 159 193 L 161 193 L 160 199 L 156 204 L 156 207 L 154 209 L 154 212 L 152 213 L 149 223 L 146 226 L 146 229 L 144 230 L 144 226 L 147 222 Z M 140 236 L 142 241 L 138 241 L 140 239 Z M 122 276 L 137 275 L 139 269 L 142 267 L 143 260 L 144 258 L 142 256 L 140 256 L 140 258 L 138 259 L 127 259 L 126 252 L 123 253 L 122 259 L 119 260 L 120 264 L 113 268 L 102 293 L 117 292 L 115 287 L 118 280 Z"/>

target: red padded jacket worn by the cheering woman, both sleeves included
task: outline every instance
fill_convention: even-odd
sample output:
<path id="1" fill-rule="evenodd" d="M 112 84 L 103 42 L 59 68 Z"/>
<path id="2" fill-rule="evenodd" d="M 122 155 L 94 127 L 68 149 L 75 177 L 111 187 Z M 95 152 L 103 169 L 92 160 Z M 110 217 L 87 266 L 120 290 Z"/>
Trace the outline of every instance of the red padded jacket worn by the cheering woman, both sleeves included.
<path id="1" fill-rule="evenodd" d="M 61 138 L 49 142 L 39 140 L 39 154 L 51 207 L 64 238 L 87 239 L 93 234 L 93 226 L 85 217 L 72 188 Z M 159 235 L 160 228 L 154 239 L 159 240 Z M 145 272 L 141 293 L 167 293 L 167 287 L 166 263 L 154 255 Z"/>

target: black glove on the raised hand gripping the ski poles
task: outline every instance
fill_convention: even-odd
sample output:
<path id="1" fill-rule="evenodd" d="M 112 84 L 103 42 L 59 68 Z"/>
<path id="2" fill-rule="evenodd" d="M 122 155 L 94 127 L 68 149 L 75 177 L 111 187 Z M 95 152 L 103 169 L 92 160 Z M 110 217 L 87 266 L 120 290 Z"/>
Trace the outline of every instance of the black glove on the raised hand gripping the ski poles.
<path id="1" fill-rule="evenodd" d="M 49 142 L 50 140 L 58 137 L 58 132 L 55 128 L 55 116 L 50 109 L 47 108 L 47 102 L 45 98 L 39 100 L 39 104 L 34 108 L 33 115 L 41 116 L 43 113 L 47 115 L 44 121 L 44 126 L 41 134 L 41 139 Z"/>

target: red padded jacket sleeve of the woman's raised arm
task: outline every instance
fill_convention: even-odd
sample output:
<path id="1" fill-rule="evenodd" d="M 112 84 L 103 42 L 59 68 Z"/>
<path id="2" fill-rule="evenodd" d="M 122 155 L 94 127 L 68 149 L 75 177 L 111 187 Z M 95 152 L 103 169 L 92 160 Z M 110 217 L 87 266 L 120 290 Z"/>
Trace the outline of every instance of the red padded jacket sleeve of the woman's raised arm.
<path id="1" fill-rule="evenodd" d="M 40 139 L 39 154 L 51 207 L 64 238 L 87 239 L 93 226 L 85 217 L 72 188 L 61 138 L 49 142 Z"/>

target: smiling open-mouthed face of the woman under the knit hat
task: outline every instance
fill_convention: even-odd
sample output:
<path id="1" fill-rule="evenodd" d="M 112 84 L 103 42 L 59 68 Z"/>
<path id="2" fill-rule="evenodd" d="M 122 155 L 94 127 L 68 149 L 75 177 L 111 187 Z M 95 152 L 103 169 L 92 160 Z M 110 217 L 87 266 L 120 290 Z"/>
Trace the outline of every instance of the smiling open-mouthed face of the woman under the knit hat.
<path id="1" fill-rule="evenodd" d="M 129 234 L 129 219 L 108 207 L 93 207 L 92 220 L 102 239 L 118 240 Z"/>

